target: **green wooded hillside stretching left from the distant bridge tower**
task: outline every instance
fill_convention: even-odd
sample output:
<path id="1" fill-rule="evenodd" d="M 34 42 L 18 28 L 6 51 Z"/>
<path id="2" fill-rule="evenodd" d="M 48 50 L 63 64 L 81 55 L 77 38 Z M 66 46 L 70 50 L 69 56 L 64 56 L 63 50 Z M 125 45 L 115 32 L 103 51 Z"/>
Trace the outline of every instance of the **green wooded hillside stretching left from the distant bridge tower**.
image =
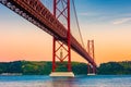
<path id="1" fill-rule="evenodd" d="M 57 62 L 56 71 L 67 71 L 67 66 Z M 35 62 L 35 61 L 14 61 L 1 62 L 0 74 L 2 73 L 22 73 L 23 75 L 49 75 L 51 73 L 51 62 Z M 79 69 L 79 70 L 78 70 Z M 72 62 L 72 70 L 75 75 L 87 74 L 87 65 L 85 63 Z"/>

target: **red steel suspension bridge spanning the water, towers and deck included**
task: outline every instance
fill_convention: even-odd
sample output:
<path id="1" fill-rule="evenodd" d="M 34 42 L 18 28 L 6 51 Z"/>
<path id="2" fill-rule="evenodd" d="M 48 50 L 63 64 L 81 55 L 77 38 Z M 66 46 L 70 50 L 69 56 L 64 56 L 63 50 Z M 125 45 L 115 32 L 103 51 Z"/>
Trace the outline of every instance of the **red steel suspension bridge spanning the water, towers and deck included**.
<path id="1" fill-rule="evenodd" d="M 96 72 L 94 42 L 88 41 L 91 50 L 87 52 L 84 48 L 73 0 L 0 0 L 0 3 L 53 37 L 52 72 L 57 69 L 57 60 L 60 62 L 68 60 L 68 72 L 72 71 L 71 49 L 90 63 L 93 73 Z M 53 3 L 50 4 L 51 8 L 49 3 Z M 64 54 L 59 55 L 61 49 Z"/>

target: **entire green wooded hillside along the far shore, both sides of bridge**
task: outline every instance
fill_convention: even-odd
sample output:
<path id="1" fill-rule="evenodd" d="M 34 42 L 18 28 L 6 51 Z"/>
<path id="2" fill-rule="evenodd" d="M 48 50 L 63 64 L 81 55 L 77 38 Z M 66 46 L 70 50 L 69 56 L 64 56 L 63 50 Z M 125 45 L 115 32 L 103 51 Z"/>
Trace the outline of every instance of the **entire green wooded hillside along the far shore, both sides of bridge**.
<path id="1" fill-rule="evenodd" d="M 0 62 L 0 74 L 21 73 L 23 75 L 49 75 L 51 73 L 51 62 L 36 61 L 14 61 Z M 67 62 L 57 62 L 58 72 L 67 71 Z M 87 74 L 87 64 L 72 62 L 72 71 L 75 75 Z M 102 63 L 97 67 L 98 75 L 129 75 L 131 74 L 131 61 Z"/>

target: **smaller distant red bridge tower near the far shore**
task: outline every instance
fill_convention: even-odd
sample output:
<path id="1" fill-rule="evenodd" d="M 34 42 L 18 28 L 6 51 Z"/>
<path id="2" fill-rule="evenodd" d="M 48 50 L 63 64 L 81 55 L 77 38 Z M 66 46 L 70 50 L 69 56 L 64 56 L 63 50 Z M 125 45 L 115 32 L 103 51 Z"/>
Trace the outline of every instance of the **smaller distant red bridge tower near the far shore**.
<path id="1" fill-rule="evenodd" d="M 94 40 L 87 40 L 87 52 L 93 58 L 93 61 L 95 61 L 95 54 L 94 54 Z M 87 64 L 87 73 L 88 75 L 96 73 L 96 67 L 94 67 L 92 64 Z"/>

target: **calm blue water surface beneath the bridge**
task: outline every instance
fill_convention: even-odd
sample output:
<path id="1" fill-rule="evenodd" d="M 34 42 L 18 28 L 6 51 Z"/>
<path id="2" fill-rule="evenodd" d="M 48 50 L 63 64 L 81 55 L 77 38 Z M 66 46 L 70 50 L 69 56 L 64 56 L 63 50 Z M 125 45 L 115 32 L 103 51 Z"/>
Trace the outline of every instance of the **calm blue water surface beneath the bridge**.
<path id="1" fill-rule="evenodd" d="M 131 87 L 131 75 L 0 76 L 0 87 Z"/>

